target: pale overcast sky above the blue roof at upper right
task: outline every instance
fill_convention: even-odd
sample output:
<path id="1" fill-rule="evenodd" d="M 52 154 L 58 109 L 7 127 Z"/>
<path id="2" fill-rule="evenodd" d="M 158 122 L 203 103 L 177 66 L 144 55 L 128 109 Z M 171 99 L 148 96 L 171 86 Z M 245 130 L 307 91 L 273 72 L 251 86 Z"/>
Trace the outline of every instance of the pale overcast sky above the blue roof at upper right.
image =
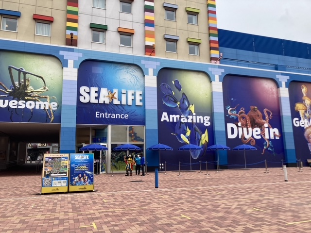
<path id="1" fill-rule="evenodd" d="M 311 44 L 311 0 L 216 0 L 219 29 Z"/>

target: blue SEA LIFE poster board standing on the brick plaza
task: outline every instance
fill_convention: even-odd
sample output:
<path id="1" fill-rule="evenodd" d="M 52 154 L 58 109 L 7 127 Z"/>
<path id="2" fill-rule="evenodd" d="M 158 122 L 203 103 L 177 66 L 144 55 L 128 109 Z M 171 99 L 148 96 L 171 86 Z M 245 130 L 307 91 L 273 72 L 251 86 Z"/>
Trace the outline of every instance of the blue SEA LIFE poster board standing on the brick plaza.
<path id="1" fill-rule="evenodd" d="M 69 192 L 94 190 L 94 153 L 71 153 Z"/>

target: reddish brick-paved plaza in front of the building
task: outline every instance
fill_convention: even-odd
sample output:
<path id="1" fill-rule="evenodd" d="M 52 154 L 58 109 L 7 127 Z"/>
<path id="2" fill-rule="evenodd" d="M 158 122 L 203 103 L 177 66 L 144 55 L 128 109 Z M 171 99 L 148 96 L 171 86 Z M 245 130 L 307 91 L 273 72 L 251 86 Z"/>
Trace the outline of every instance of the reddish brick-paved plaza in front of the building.
<path id="1" fill-rule="evenodd" d="M 158 188 L 100 174 L 95 192 L 45 195 L 35 170 L 0 172 L 0 233 L 311 233 L 310 167 L 161 172 Z"/>

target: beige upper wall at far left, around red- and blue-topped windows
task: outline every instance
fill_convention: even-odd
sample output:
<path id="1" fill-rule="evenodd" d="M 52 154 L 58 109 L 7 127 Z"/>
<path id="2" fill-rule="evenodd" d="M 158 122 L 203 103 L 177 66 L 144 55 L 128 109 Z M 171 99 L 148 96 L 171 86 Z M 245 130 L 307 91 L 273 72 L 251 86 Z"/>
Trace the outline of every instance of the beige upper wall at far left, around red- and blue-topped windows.
<path id="1" fill-rule="evenodd" d="M 0 0 L 0 8 L 21 13 L 21 17 L 17 19 L 17 32 L 0 30 L 1 38 L 65 45 L 66 0 Z M 34 14 L 53 17 L 51 37 L 35 35 Z"/>

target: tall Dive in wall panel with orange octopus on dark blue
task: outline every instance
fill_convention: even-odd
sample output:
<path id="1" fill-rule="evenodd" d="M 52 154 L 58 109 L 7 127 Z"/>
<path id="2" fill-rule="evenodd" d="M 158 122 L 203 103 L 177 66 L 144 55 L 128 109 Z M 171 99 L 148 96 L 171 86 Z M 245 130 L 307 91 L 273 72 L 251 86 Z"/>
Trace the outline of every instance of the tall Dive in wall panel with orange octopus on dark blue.
<path id="1" fill-rule="evenodd" d="M 247 163 L 262 167 L 265 160 L 281 166 L 285 160 L 278 88 L 272 79 L 226 75 L 223 81 L 226 146 L 247 144 Z M 228 167 L 244 163 L 243 153 L 228 151 Z M 279 163 L 279 164 L 278 164 Z M 231 167 L 230 167 L 231 168 Z"/>

